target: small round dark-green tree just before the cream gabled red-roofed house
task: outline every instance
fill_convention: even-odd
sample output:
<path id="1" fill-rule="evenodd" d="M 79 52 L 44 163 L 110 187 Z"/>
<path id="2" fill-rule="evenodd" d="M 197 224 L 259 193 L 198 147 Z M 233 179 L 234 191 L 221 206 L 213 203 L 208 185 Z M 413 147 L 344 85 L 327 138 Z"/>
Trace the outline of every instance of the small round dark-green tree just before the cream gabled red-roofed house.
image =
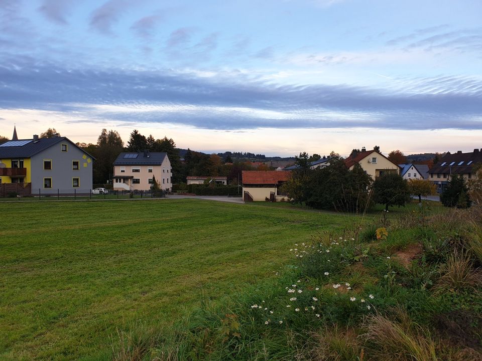
<path id="1" fill-rule="evenodd" d="M 401 175 L 388 172 L 380 175 L 373 183 L 375 202 L 389 206 L 405 206 L 410 201 L 407 182 Z"/>

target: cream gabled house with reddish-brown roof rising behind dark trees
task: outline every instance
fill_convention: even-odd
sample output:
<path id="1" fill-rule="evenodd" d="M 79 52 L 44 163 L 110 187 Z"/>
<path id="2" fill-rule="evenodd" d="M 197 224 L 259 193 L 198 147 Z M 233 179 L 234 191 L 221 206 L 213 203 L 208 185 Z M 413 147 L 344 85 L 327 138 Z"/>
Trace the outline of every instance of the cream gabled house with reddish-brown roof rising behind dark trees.
<path id="1" fill-rule="evenodd" d="M 345 159 L 345 165 L 348 169 L 353 169 L 355 163 L 358 163 L 374 180 L 386 172 L 399 173 L 400 167 L 382 153 L 374 150 L 366 150 L 348 156 Z"/>

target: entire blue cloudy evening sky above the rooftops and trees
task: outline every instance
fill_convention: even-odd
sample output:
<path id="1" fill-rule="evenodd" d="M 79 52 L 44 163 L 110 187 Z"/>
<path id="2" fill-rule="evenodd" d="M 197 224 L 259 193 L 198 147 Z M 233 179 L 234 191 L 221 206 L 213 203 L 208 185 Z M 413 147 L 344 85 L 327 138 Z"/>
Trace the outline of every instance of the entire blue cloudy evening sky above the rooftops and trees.
<path id="1" fill-rule="evenodd" d="M 0 0 L 0 135 L 482 148 L 479 0 Z"/>

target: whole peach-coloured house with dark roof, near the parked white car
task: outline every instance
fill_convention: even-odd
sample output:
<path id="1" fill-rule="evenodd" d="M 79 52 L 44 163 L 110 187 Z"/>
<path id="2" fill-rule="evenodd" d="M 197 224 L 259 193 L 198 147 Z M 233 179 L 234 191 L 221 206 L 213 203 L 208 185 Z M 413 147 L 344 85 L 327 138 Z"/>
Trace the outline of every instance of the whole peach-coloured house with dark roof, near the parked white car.
<path id="1" fill-rule="evenodd" d="M 160 188 L 171 192 L 171 161 L 164 152 L 122 152 L 114 161 L 114 191 L 150 190 L 153 178 Z"/>

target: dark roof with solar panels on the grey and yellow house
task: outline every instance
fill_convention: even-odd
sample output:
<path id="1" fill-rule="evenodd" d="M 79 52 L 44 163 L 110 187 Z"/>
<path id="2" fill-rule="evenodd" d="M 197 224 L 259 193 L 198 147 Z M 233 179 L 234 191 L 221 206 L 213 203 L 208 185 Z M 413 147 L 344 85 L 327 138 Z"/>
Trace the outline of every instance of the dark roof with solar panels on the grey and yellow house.
<path id="1" fill-rule="evenodd" d="M 9 140 L 3 144 L 0 144 L 0 158 L 30 158 L 41 151 L 50 148 L 51 146 L 68 141 L 70 144 L 79 148 L 67 137 L 53 137 L 53 138 L 38 138 L 38 139 L 19 139 Z M 10 145 L 15 146 L 10 146 Z M 79 148 L 81 149 L 81 148 Z M 81 149 L 84 153 L 88 154 L 92 159 L 95 159 L 92 155 Z"/>

